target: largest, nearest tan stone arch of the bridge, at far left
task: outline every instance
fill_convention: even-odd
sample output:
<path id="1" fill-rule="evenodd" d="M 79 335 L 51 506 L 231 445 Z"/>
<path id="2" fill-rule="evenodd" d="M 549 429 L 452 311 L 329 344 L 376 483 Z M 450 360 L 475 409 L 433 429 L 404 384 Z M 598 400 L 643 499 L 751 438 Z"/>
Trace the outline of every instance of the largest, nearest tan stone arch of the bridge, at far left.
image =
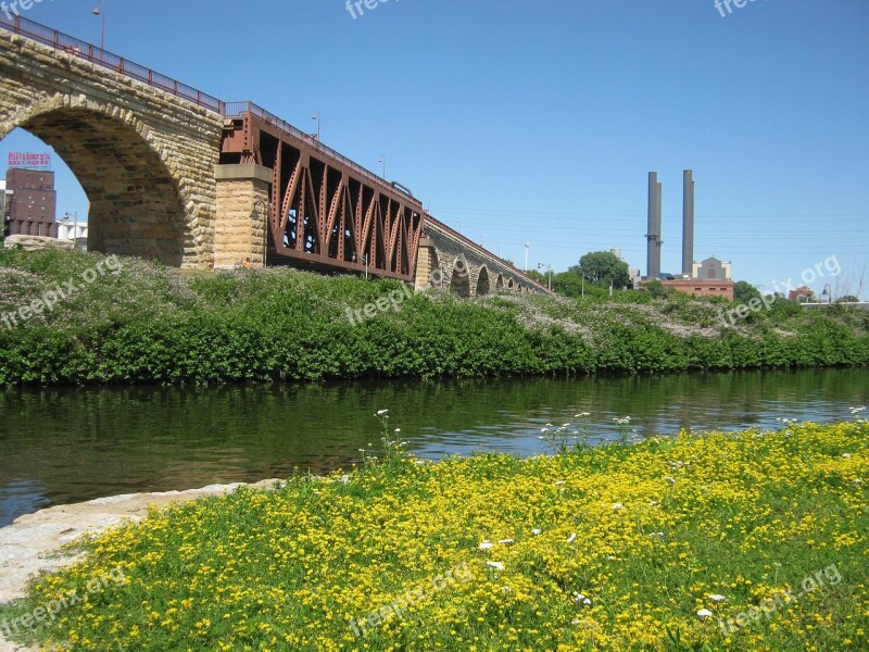
<path id="1" fill-rule="evenodd" d="M 213 260 L 218 114 L 0 30 L 0 140 L 18 127 L 81 184 L 88 249 L 173 266 Z"/>

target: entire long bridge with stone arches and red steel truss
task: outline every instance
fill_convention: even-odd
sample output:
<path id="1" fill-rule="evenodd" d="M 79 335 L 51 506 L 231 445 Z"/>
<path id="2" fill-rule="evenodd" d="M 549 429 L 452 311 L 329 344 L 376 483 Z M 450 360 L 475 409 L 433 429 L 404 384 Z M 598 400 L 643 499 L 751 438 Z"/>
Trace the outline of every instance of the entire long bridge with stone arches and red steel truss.
<path id="1" fill-rule="evenodd" d="M 81 184 L 90 250 L 179 267 L 250 259 L 365 273 L 467 297 L 546 291 L 401 185 L 260 106 L 0 15 L 0 139 L 17 127 Z"/>

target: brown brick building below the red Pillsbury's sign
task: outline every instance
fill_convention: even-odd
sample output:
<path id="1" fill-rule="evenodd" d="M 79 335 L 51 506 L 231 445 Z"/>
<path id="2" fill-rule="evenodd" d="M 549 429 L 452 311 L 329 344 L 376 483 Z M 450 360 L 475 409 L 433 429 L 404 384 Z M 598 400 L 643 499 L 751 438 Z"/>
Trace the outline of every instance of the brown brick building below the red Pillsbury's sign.
<path id="1" fill-rule="evenodd" d="M 58 237 L 53 172 L 13 167 L 7 173 L 5 187 L 7 192 L 12 191 L 7 210 L 8 236 Z"/>

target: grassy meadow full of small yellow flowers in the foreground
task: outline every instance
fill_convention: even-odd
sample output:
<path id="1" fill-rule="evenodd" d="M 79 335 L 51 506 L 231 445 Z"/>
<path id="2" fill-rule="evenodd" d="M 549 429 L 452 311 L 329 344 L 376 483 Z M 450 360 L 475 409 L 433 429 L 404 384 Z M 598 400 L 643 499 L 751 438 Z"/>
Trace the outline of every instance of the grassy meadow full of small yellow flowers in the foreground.
<path id="1" fill-rule="evenodd" d="M 381 412 L 360 467 L 153 512 L 0 622 L 76 591 L 28 631 L 161 652 L 866 650 L 869 424 L 854 414 L 430 463 Z M 125 581 L 85 590 L 108 573 Z"/>

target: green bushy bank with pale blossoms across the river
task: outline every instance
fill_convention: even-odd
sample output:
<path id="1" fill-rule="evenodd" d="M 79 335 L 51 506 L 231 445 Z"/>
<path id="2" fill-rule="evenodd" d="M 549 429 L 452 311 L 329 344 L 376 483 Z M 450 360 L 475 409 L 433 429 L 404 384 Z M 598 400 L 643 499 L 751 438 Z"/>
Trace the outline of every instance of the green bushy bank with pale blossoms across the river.
<path id="1" fill-rule="evenodd" d="M 732 304 L 684 296 L 466 300 L 411 296 L 389 280 L 290 269 L 188 274 L 117 260 L 0 250 L 0 384 L 578 375 L 869 361 L 869 314 L 844 309 L 773 304 L 731 323 Z M 48 309 L 47 292 L 55 289 L 63 298 Z M 389 308 L 360 312 L 378 299 Z M 25 306 L 34 306 L 26 318 Z M 363 318 L 350 318 L 353 311 Z"/>

